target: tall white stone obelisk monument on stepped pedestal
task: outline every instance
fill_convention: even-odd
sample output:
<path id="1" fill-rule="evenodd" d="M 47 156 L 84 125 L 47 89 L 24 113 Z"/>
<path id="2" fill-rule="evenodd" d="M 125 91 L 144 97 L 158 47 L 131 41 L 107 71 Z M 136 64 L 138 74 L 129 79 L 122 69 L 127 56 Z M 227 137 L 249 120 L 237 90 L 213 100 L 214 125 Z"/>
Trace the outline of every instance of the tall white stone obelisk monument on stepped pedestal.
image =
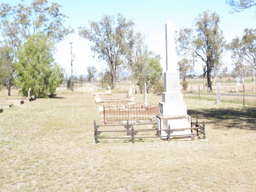
<path id="1" fill-rule="evenodd" d="M 191 117 L 187 115 L 187 106 L 180 92 L 180 78 L 175 51 L 175 30 L 172 20 L 166 23 L 166 71 L 164 72 L 164 92 L 159 103 L 160 113 L 157 115 L 157 129 L 189 128 Z M 160 131 L 162 136 L 166 131 Z M 174 131 L 171 136 L 191 134 L 191 130 Z M 180 138 L 180 137 L 179 137 Z M 186 137 L 188 138 L 188 137 Z M 189 136 L 191 138 L 191 136 Z"/>

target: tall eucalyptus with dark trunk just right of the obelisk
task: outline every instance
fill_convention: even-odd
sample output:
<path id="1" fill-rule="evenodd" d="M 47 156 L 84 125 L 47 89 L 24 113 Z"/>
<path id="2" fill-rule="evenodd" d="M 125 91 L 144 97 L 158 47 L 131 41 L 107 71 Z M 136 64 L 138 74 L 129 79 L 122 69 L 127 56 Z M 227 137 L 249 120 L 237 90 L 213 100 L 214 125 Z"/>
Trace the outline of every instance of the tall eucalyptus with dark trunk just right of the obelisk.
<path id="1" fill-rule="evenodd" d="M 177 52 L 204 62 L 207 70 L 207 84 L 212 90 L 211 73 L 221 62 L 224 37 L 219 29 L 220 18 L 215 12 L 203 12 L 195 20 L 195 30 L 180 29 L 177 33 Z"/>

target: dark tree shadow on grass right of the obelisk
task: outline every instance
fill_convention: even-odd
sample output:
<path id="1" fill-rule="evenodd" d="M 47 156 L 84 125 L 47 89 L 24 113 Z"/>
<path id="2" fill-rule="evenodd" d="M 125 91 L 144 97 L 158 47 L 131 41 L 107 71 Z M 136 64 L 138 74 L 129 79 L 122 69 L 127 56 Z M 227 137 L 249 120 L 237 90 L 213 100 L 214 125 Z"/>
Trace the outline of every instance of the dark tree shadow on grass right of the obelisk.
<path id="1" fill-rule="evenodd" d="M 207 119 L 207 122 L 214 124 L 214 129 L 249 129 L 256 131 L 256 108 L 218 108 L 188 110 L 192 120 Z"/>

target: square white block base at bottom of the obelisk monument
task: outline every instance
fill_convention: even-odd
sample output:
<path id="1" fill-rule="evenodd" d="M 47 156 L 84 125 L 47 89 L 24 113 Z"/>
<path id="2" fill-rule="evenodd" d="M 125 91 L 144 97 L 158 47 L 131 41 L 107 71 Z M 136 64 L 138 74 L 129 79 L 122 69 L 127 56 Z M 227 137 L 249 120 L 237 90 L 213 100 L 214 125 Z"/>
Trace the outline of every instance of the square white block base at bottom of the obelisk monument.
<path id="1" fill-rule="evenodd" d="M 171 129 L 178 128 L 190 128 L 191 127 L 191 116 L 189 115 L 180 115 L 180 116 L 163 116 L 161 113 L 157 115 L 157 129 L 159 129 L 160 136 L 167 136 L 168 126 L 170 125 Z M 171 139 L 181 139 L 181 140 L 191 140 L 191 136 L 177 136 L 175 135 L 184 135 L 191 134 L 191 129 L 182 130 L 182 131 L 173 131 L 171 134 Z M 166 139 L 167 137 L 161 137 L 161 139 Z"/>

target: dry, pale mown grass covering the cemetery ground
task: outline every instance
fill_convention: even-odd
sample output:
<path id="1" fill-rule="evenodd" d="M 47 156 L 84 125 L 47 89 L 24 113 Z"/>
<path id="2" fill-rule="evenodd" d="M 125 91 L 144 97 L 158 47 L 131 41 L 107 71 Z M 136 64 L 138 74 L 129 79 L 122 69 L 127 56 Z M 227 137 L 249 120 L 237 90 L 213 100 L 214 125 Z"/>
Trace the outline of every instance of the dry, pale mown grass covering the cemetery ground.
<path id="1" fill-rule="evenodd" d="M 7 108 L 0 113 L 0 191 L 256 191 L 256 108 L 185 102 L 193 120 L 206 122 L 207 141 L 96 145 L 93 120 L 101 119 L 91 93 Z"/>

